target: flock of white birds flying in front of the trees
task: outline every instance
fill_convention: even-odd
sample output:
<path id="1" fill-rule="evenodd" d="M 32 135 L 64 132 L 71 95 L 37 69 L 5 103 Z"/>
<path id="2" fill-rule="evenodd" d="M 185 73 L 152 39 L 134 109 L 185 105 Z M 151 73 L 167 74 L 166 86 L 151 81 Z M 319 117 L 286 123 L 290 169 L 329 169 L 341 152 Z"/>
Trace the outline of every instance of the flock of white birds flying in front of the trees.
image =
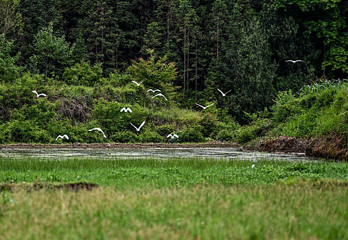
<path id="1" fill-rule="evenodd" d="M 286 60 L 285 62 L 296 63 L 296 62 L 304 62 L 304 61 L 303 61 L 303 60 Z M 132 82 L 134 82 L 135 84 L 137 84 L 137 86 L 140 86 L 140 84 L 141 84 L 143 81 L 141 81 L 141 82 L 132 81 Z M 218 91 L 222 94 L 222 97 L 225 97 L 225 96 L 227 95 L 227 93 L 231 92 L 231 90 L 230 90 L 230 91 L 227 91 L 226 93 L 223 93 L 219 88 L 218 88 Z M 163 97 L 163 98 L 165 99 L 165 101 L 168 101 L 168 99 L 161 93 L 161 90 L 159 90 L 159 89 L 156 89 L 156 90 L 149 89 L 148 92 L 152 92 L 152 93 L 159 92 L 158 94 L 156 94 L 156 95 L 154 95 L 153 97 L 151 97 L 151 99 L 153 99 L 154 97 Z M 36 92 L 35 90 L 32 91 L 32 93 L 35 93 L 35 94 L 36 94 L 36 97 L 40 97 L 40 96 L 47 97 L 47 95 L 45 95 L 45 93 L 40 93 L 40 94 L 38 94 L 38 92 Z M 196 105 L 197 105 L 197 106 L 200 106 L 201 108 L 203 108 L 203 109 L 205 110 L 206 108 L 209 108 L 210 106 L 213 106 L 214 104 L 210 104 L 210 105 L 208 105 L 208 106 L 202 106 L 202 105 L 196 103 Z M 125 107 L 124 107 L 124 108 L 121 109 L 120 112 L 132 112 L 132 110 L 131 110 L 130 108 L 125 108 Z M 143 122 L 140 124 L 139 128 L 137 128 L 137 126 L 135 126 L 133 123 L 130 123 L 130 125 L 132 125 L 132 126 L 135 128 L 135 130 L 137 130 L 137 132 L 140 132 L 140 129 L 143 127 L 144 124 L 145 124 L 145 121 L 143 121 Z M 93 128 L 93 129 L 90 129 L 89 132 L 91 132 L 91 131 L 93 131 L 93 130 L 97 130 L 97 131 L 99 131 L 99 132 L 102 132 L 104 138 L 106 138 L 106 135 L 104 134 L 104 132 L 103 132 L 103 130 L 102 130 L 101 128 Z M 180 132 L 181 132 L 181 131 L 180 131 Z M 57 138 L 56 138 L 56 141 L 57 141 L 58 139 L 64 139 L 64 138 L 69 140 L 69 136 L 67 136 L 67 134 L 64 134 L 64 135 L 62 135 L 62 136 L 61 136 L 61 135 L 58 135 Z M 175 139 L 175 138 L 178 138 L 178 135 L 177 135 L 177 134 L 174 134 L 174 133 L 172 132 L 171 134 L 168 134 L 168 135 L 167 135 L 167 139 L 169 139 L 169 138 L 170 138 L 170 139 Z M 253 165 L 253 167 L 255 167 L 255 165 Z"/>

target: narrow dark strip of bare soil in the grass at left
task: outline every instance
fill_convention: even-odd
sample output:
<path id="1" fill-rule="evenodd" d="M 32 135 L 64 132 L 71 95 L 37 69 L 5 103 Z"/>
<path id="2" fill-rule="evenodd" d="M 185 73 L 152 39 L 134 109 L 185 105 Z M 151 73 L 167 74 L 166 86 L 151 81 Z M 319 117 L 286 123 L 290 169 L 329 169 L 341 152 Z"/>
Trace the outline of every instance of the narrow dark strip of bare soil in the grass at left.
<path id="1" fill-rule="evenodd" d="M 98 184 L 89 182 L 69 182 L 69 183 L 51 183 L 51 182 L 35 182 L 34 184 L 15 184 L 15 183 L 3 183 L 0 184 L 0 191 L 14 191 L 15 189 L 25 189 L 26 191 L 40 190 L 40 189 L 51 189 L 51 190 L 70 190 L 80 191 L 86 190 L 91 191 L 99 187 Z"/>

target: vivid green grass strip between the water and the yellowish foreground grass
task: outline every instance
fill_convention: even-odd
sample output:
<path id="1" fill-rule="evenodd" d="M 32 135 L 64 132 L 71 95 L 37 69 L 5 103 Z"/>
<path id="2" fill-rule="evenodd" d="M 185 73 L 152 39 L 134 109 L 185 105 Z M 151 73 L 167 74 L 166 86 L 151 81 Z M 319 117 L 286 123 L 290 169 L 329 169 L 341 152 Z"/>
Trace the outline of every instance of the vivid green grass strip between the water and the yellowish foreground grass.
<path id="1" fill-rule="evenodd" d="M 251 166 L 255 164 L 255 167 Z M 201 158 L 45 160 L 0 158 L 0 182 L 95 182 L 120 188 L 195 184 L 274 184 L 290 179 L 348 179 L 346 164 Z"/>

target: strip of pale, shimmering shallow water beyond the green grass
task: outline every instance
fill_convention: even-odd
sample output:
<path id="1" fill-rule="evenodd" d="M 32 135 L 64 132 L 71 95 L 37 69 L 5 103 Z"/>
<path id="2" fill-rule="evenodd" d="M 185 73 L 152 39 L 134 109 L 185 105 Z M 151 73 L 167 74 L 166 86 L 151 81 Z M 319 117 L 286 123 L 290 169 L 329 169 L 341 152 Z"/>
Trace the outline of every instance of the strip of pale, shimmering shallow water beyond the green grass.
<path id="1" fill-rule="evenodd" d="M 304 154 L 283 154 L 267 152 L 244 152 L 236 148 L 146 148 L 146 149 L 0 149 L 0 156 L 21 158 L 25 156 L 67 159 L 67 158 L 224 158 L 269 160 L 303 160 Z M 308 158 L 309 159 L 309 158 Z"/>

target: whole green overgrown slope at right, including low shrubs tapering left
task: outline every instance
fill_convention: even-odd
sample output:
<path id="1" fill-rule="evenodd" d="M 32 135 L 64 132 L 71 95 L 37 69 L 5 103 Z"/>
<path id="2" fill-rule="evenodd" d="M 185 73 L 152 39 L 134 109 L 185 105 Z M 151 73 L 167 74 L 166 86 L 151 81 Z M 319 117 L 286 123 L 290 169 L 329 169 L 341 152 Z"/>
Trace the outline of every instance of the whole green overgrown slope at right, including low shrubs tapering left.
<path id="1" fill-rule="evenodd" d="M 268 111 L 249 115 L 251 124 L 236 131 L 236 140 L 246 143 L 257 137 L 298 138 L 337 134 L 348 139 L 347 80 L 316 80 L 301 88 L 281 92 Z"/>

